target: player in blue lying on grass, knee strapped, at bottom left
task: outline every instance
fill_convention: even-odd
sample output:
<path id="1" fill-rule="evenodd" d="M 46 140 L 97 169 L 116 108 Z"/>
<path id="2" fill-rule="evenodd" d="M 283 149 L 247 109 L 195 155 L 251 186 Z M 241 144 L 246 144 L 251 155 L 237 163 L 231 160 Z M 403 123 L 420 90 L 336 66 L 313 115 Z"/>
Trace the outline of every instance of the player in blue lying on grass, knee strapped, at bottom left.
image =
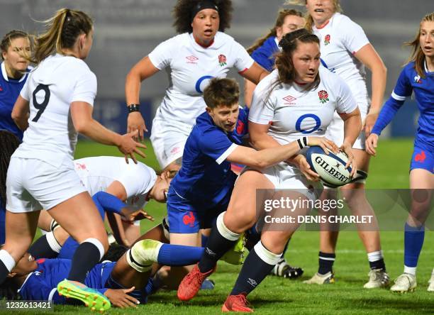
<path id="1" fill-rule="evenodd" d="M 55 304 L 76 304 L 79 300 L 90 309 L 99 311 L 108 309 L 111 304 L 121 308 L 135 307 L 146 303 L 152 292 L 150 275 L 153 263 L 191 265 L 199 260 L 203 251 L 204 248 L 139 241 L 117 262 L 105 261 L 92 268 L 84 280 L 88 288 L 57 288 L 57 284 L 67 277 L 71 260 L 35 259 L 26 253 L 1 285 L 0 294 L 13 299 L 18 291 L 22 299 L 49 300 Z M 94 299 L 95 292 L 104 294 L 104 299 Z"/>

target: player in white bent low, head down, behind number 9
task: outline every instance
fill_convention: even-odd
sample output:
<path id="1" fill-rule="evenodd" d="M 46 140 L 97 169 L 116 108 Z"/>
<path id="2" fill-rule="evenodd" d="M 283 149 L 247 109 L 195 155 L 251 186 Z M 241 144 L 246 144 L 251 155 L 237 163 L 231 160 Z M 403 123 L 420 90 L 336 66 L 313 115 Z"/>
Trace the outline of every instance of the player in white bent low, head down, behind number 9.
<path id="1" fill-rule="evenodd" d="M 133 223 L 129 216 L 135 217 L 136 220 L 145 217 L 152 219 L 141 209 L 150 199 L 158 202 L 166 201 L 167 190 L 175 174 L 166 171 L 157 175 L 151 167 L 141 162 L 126 164 L 121 157 L 109 156 L 75 160 L 74 168 L 84 187 L 91 194 L 103 219 L 106 211 L 116 241 L 128 247 L 140 237 L 139 221 Z M 115 216 L 120 222 L 116 221 Z M 123 216 L 123 220 L 120 216 Z M 50 215 L 45 212 L 39 220 L 39 226 L 47 230 L 48 226 L 52 225 Z M 64 245 L 67 238 L 69 234 L 63 228 L 56 228 L 55 232 L 50 231 L 33 243 L 29 252 L 35 257 L 57 257 L 60 246 Z M 72 238 L 69 238 L 65 244 L 67 248 L 77 246 Z M 61 255 L 59 258 L 69 258 L 69 256 Z"/>

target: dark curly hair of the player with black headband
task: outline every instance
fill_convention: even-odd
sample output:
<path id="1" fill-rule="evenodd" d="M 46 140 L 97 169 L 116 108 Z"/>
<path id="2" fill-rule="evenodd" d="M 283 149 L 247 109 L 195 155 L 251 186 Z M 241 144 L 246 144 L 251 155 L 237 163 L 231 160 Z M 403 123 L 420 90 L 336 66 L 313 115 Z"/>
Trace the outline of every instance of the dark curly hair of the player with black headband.
<path id="1" fill-rule="evenodd" d="M 201 0 L 178 0 L 173 8 L 174 22 L 173 26 L 177 33 L 191 33 L 191 21 L 194 16 L 191 16 L 191 10 L 197 6 Z M 230 20 L 232 19 L 232 1 L 230 0 L 213 0 L 218 7 L 218 17 L 220 25 L 218 31 L 224 32 L 226 28 L 230 28 Z"/>

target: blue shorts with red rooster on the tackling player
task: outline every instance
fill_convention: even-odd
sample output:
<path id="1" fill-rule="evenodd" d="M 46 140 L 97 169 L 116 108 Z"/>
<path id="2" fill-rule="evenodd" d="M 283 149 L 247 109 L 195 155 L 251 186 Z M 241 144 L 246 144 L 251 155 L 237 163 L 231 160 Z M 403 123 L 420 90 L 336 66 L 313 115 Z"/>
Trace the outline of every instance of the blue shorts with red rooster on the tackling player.
<path id="1" fill-rule="evenodd" d="M 201 228 L 211 228 L 217 216 L 228 209 L 232 189 L 218 204 L 192 204 L 179 197 L 174 189 L 167 194 L 167 218 L 170 233 L 197 233 Z"/>

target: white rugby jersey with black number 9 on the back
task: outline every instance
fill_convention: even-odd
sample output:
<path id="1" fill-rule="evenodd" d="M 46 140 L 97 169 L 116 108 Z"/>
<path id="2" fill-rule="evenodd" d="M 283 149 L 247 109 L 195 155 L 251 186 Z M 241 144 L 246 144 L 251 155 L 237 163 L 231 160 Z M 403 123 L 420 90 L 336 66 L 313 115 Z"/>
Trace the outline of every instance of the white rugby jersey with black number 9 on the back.
<path id="1" fill-rule="evenodd" d="M 28 128 L 16 157 L 38 158 L 59 167 L 74 158 L 77 131 L 69 106 L 84 101 L 94 106 L 96 76 L 83 60 L 52 55 L 30 72 L 21 96 L 30 101 Z"/>

